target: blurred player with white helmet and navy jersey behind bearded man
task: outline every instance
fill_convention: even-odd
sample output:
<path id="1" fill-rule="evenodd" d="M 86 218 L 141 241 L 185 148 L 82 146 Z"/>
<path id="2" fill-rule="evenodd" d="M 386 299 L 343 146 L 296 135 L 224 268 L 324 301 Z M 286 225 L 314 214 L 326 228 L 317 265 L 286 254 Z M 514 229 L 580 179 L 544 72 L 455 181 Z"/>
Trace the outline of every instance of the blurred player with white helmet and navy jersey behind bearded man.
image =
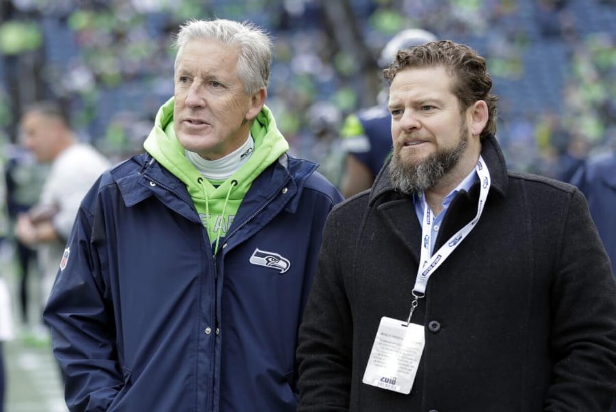
<path id="1" fill-rule="evenodd" d="M 400 49 L 434 40 L 436 36 L 426 30 L 400 31 L 384 47 L 379 65 L 385 68 Z M 342 125 L 342 147 L 347 152 L 341 179 L 341 192 L 345 198 L 368 190 L 391 153 L 391 115 L 387 98 L 387 87 L 384 87 L 378 105 L 352 113 Z"/>

